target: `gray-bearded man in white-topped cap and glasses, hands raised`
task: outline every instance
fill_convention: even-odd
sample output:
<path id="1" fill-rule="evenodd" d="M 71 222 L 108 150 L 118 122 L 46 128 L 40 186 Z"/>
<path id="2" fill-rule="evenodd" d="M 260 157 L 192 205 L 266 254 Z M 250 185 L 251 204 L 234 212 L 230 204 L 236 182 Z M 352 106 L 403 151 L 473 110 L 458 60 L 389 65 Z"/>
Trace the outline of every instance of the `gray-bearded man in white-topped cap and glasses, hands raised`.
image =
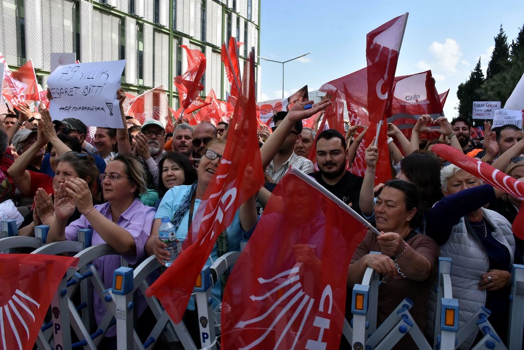
<path id="1" fill-rule="evenodd" d="M 166 152 L 163 149 L 166 143 L 166 128 L 160 121 L 147 119 L 140 129 L 140 134 L 133 138 L 133 145 L 138 155 L 144 160 L 149 168 L 154 185 L 158 184 L 159 171 L 158 163 L 162 155 Z"/>

